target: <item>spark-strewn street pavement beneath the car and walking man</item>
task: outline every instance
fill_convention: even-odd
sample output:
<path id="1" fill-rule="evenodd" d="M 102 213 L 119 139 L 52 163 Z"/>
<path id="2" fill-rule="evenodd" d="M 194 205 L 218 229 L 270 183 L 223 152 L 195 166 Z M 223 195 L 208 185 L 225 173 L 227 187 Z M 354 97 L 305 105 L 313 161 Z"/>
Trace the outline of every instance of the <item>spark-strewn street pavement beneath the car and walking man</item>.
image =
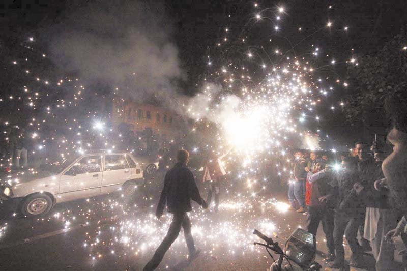
<path id="1" fill-rule="evenodd" d="M 13 216 L 2 210 L 0 270 L 141 270 L 168 229 L 171 216 L 154 216 L 159 184 L 131 199 L 120 193 L 57 204 L 43 218 Z M 153 189 L 152 189 L 153 188 Z M 201 189 L 202 196 L 206 191 Z M 166 253 L 159 270 L 268 270 L 272 260 L 252 234 L 258 229 L 284 244 L 305 214 L 289 212 L 285 193 L 237 193 L 223 189 L 219 213 L 194 205 L 190 213 L 196 247 L 191 263 L 182 231 Z M 316 261 L 326 267 L 321 227 Z M 346 259 L 350 251 L 345 244 Z M 374 270 L 372 257 L 366 256 Z M 351 269 L 366 270 L 366 269 Z"/>

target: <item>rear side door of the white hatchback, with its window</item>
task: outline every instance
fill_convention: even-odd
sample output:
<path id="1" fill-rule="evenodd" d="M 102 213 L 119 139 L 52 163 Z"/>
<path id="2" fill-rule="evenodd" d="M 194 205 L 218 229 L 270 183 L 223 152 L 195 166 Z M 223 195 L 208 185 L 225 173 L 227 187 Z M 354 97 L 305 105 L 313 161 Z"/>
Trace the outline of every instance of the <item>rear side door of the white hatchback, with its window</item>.
<path id="1" fill-rule="evenodd" d="M 117 191 L 126 180 L 131 179 L 131 171 L 124 154 L 104 155 L 102 194 Z"/>

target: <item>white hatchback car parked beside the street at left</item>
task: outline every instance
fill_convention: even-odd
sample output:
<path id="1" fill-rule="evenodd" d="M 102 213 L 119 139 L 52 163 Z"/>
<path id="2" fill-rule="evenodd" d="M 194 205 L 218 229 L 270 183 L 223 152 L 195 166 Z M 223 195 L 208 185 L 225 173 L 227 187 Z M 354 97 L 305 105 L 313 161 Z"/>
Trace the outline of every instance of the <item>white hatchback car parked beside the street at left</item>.
<path id="1" fill-rule="evenodd" d="M 82 155 L 55 175 L 9 179 L 2 184 L 0 198 L 17 201 L 24 216 L 35 217 L 48 213 L 56 203 L 115 191 L 131 196 L 143 182 L 141 166 L 131 154 L 95 153 Z"/>

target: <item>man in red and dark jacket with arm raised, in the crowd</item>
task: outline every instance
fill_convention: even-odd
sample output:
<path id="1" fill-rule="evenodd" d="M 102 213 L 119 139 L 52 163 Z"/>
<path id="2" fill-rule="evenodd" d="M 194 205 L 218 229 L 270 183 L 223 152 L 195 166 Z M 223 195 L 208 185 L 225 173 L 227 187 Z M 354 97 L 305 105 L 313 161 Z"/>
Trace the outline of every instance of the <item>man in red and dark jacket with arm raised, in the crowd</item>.
<path id="1" fill-rule="evenodd" d="M 334 246 L 334 210 L 333 188 L 331 187 L 331 174 L 324 168 L 322 162 L 316 163 L 314 171 L 308 172 L 306 181 L 307 191 L 305 203 L 307 204 L 307 231 L 316 235 L 319 222 L 325 232 L 328 247 L 328 261 L 335 259 Z"/>

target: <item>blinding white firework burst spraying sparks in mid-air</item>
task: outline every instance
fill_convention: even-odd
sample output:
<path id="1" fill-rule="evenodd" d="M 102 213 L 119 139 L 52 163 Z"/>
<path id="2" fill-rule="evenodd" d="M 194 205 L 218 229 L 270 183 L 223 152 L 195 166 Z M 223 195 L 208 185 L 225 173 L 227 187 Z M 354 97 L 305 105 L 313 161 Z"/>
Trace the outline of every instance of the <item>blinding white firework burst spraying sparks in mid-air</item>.
<path id="1" fill-rule="evenodd" d="M 256 4 L 255 9 L 258 7 Z M 277 24 L 282 16 L 288 16 L 283 7 L 267 8 L 256 12 L 254 19 L 244 25 L 253 28 L 261 20 Z M 211 73 L 203 92 L 186 105 L 186 111 L 198 122 L 208 119 L 216 123 L 220 142 L 235 147 L 246 158 L 256 158 L 262 153 L 281 154 L 287 147 L 317 148 L 311 142 L 315 140 L 306 136 L 321 119 L 316 113 L 318 106 L 328 107 L 324 102 L 333 92 L 333 84 L 327 68 L 338 62 L 329 54 L 319 59 L 317 56 L 323 50 L 314 44 L 301 48 L 304 53 L 300 56 L 294 48 L 301 47 L 302 41 L 312 39 L 319 32 L 331 31 L 333 26 L 331 21 L 321 22 L 312 34 L 303 33 L 306 36 L 298 44 L 288 42 L 285 50 L 250 44 L 247 35 L 235 37 L 235 42 L 230 37 L 224 38 L 216 46 L 219 60 L 208 56 Z M 348 27 L 345 28 L 347 31 Z M 229 28 L 226 29 L 229 34 Z M 246 33 L 245 29 L 239 33 Z M 271 37 L 288 40 L 280 34 Z M 257 41 L 258 37 L 253 37 L 253 42 Z M 231 55 L 236 58 L 230 60 Z M 355 64 L 355 58 L 351 63 Z M 348 86 L 336 77 L 335 80 L 336 84 Z"/>

